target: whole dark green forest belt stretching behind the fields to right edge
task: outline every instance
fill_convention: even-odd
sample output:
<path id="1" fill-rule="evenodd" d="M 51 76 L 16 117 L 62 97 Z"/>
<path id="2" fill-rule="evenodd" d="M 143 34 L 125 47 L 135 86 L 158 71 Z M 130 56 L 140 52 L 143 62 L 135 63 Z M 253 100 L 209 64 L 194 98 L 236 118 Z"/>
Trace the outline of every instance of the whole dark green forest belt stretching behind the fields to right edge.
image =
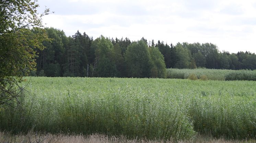
<path id="1" fill-rule="evenodd" d="M 166 68 L 256 69 L 250 52 L 220 52 L 212 43 L 167 43 L 130 41 L 129 38 L 95 40 L 77 31 L 67 37 L 61 30 L 45 28 L 50 41 L 36 49 L 36 71 L 32 76 L 166 77 Z M 36 30 L 32 30 L 36 33 Z"/>

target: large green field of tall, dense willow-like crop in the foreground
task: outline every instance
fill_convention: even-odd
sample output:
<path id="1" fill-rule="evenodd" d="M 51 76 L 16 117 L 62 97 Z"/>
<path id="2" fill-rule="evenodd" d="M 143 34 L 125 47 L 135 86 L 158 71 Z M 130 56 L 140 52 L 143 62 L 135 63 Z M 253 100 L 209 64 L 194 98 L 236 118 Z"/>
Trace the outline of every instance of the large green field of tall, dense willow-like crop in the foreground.
<path id="1" fill-rule="evenodd" d="M 255 139 L 256 82 L 25 77 L 22 110 L 0 108 L 2 131 L 102 133 L 189 140 Z M 15 103 L 13 103 L 14 105 Z"/>

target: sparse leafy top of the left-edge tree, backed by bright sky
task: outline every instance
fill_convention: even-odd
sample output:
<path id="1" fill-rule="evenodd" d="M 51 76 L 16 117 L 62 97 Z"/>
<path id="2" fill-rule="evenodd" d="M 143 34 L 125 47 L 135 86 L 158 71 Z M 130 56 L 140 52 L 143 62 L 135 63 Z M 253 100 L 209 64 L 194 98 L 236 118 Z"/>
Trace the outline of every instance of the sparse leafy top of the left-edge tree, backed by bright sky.
<path id="1" fill-rule="evenodd" d="M 37 12 L 38 4 L 31 0 L 2 0 L 0 4 L 0 33 L 12 33 L 28 27 L 42 27 L 42 16 L 48 14 Z"/>

